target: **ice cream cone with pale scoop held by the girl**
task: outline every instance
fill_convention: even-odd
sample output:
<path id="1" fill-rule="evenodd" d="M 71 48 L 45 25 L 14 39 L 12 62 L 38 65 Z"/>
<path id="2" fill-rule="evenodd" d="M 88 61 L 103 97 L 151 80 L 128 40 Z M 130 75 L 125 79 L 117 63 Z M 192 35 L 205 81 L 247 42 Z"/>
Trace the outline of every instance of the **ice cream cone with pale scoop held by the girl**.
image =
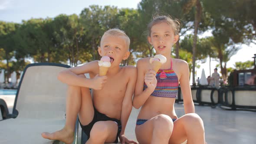
<path id="1" fill-rule="evenodd" d="M 158 72 L 158 70 L 160 69 L 161 65 L 164 64 L 166 62 L 166 57 L 159 54 L 159 55 L 155 55 L 154 58 L 150 58 L 149 62 L 152 65 L 152 69 L 155 72 Z"/>

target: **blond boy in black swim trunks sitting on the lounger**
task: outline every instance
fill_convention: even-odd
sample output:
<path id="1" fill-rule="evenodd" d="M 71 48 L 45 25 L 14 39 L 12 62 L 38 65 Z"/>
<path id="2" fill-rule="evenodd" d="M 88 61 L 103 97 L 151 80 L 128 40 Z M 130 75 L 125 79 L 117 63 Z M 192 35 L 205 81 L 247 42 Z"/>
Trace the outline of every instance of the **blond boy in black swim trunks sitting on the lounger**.
<path id="1" fill-rule="evenodd" d="M 130 55 L 130 39 L 119 29 L 110 29 L 101 39 L 98 53 L 110 57 L 111 67 L 105 76 L 99 76 L 98 60 L 60 72 L 58 79 L 69 85 L 66 101 L 65 127 L 54 133 L 42 133 L 42 137 L 72 143 L 76 115 L 89 137 L 86 144 L 102 144 L 129 141 L 124 133 L 132 108 L 137 70 L 134 66 L 120 67 Z M 86 79 L 84 74 L 89 73 Z M 89 88 L 92 88 L 92 95 Z"/>

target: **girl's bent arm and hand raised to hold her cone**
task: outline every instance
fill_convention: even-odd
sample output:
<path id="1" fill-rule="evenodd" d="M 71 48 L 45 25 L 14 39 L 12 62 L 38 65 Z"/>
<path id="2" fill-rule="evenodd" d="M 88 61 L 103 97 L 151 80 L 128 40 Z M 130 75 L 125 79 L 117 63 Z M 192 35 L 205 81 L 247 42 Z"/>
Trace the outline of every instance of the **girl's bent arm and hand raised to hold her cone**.
<path id="1" fill-rule="evenodd" d="M 145 73 L 145 64 L 147 59 L 140 59 L 137 62 L 137 81 L 135 85 L 135 93 L 134 98 L 132 101 L 132 104 L 135 108 L 140 108 L 144 102 L 148 99 L 148 97 L 151 95 L 152 92 L 154 92 L 154 89 L 157 85 L 157 80 L 155 78 L 155 72 L 153 70 L 148 71 L 146 75 Z M 143 91 L 144 82 L 148 86 Z"/>

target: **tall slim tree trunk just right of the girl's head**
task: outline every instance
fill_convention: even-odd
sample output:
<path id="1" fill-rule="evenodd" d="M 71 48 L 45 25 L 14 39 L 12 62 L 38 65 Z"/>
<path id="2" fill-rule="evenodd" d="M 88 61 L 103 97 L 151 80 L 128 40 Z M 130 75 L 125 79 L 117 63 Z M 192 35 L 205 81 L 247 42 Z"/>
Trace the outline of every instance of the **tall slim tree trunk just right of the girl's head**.
<path id="1" fill-rule="evenodd" d="M 198 31 L 198 26 L 199 26 L 199 22 L 201 19 L 201 11 L 202 7 L 201 7 L 201 3 L 200 0 L 197 0 L 197 5 L 196 5 L 196 13 L 195 13 L 195 22 L 194 22 L 194 40 L 193 40 L 193 85 L 195 85 L 195 65 L 196 65 L 196 46 L 197 46 L 197 31 Z"/>

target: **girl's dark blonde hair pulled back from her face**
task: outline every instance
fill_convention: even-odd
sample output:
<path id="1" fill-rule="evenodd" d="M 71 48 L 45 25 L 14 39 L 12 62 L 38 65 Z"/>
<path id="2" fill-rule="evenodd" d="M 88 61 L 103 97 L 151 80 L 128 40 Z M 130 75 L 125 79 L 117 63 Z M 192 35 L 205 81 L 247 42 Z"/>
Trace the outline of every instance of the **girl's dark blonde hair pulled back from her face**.
<path id="1" fill-rule="evenodd" d="M 173 19 L 171 16 L 154 16 L 153 20 L 148 24 L 148 36 L 151 35 L 151 28 L 158 23 L 167 23 L 173 30 L 174 35 L 179 35 L 181 29 L 181 23 L 177 19 Z"/>

